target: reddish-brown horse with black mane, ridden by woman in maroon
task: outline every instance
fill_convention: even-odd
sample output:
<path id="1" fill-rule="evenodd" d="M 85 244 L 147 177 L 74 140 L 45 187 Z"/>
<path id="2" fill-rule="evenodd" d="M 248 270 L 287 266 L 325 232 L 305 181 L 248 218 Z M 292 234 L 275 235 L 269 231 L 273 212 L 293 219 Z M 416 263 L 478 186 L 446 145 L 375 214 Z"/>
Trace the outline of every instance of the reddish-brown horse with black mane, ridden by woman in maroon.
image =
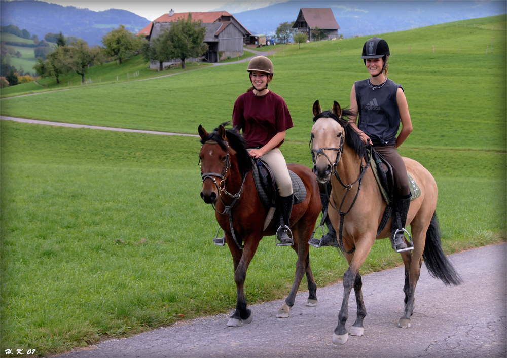
<path id="1" fill-rule="evenodd" d="M 225 123 L 223 123 L 225 124 Z M 225 129 L 221 124 L 212 133 L 199 125 L 201 150 L 202 191 L 201 198 L 215 209 L 215 218 L 224 230 L 225 242 L 229 246 L 234 263 L 234 281 L 236 282 L 236 310 L 227 326 L 239 327 L 251 323 L 251 310 L 247 308 L 244 293 L 246 270 L 255 255 L 263 236 L 275 235 L 278 221 L 272 220 L 264 230 L 264 221 L 268 209 L 259 198 L 252 170 L 252 158 L 247 152 L 246 141 L 237 129 Z M 303 276 L 308 282 L 307 306 L 317 305 L 317 285 L 310 267 L 308 241 L 315 222 L 322 209 L 318 184 L 312 170 L 301 164 L 287 164 L 289 170 L 296 173 L 306 187 L 304 201 L 294 204 L 290 219 L 294 245 L 298 254 L 296 275 L 291 292 L 277 313 L 279 318 L 287 318 Z M 276 216 L 275 216 L 276 218 Z M 242 244 L 243 243 L 243 244 Z"/>

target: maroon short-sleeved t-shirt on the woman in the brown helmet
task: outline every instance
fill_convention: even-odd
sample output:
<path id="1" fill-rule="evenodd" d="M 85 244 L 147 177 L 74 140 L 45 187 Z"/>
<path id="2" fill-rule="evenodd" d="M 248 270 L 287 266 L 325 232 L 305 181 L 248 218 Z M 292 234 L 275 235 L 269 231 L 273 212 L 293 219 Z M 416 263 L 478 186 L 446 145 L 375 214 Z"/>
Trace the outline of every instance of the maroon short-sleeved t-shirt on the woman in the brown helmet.
<path id="1" fill-rule="evenodd" d="M 255 96 L 253 91 L 240 95 L 234 103 L 232 125 L 241 128 L 248 148 L 263 147 L 276 133 L 294 127 L 287 104 L 273 91 L 264 96 Z"/>

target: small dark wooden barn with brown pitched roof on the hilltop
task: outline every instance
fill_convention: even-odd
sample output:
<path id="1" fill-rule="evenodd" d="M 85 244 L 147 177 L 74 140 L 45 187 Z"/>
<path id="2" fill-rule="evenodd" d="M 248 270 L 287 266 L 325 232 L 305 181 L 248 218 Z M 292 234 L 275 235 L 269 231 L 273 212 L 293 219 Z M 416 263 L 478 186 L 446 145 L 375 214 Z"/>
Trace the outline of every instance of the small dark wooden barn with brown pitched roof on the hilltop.
<path id="1" fill-rule="evenodd" d="M 316 27 L 323 29 L 329 39 L 337 38 L 340 29 L 330 8 L 301 8 L 292 27 L 308 34 L 310 41 L 312 41 L 311 30 Z"/>

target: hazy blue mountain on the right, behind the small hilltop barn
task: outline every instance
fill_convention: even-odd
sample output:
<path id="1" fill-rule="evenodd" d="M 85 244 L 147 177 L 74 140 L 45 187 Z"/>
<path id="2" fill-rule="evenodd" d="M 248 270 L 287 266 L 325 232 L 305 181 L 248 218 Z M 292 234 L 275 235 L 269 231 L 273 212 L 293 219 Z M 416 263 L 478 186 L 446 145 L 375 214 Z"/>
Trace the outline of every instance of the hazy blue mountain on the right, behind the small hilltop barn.
<path id="1" fill-rule="evenodd" d="M 331 8 L 338 33 L 349 38 L 502 15 L 507 13 L 507 2 L 290 0 L 232 15 L 253 34 L 274 34 L 280 23 L 295 21 L 300 8 Z"/>

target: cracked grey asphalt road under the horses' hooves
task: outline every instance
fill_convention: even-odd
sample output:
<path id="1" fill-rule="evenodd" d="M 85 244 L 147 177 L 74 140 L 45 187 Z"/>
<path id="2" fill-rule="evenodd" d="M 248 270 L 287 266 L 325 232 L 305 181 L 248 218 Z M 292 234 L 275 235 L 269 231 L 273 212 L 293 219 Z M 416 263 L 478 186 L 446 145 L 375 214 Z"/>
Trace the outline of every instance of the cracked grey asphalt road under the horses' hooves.
<path id="1" fill-rule="evenodd" d="M 240 328 L 226 327 L 228 315 L 199 318 L 59 358 L 505 357 L 506 249 L 503 243 L 450 256 L 464 279 L 458 287 L 446 287 L 423 265 L 409 329 L 396 327 L 403 314 L 403 268 L 364 276 L 365 335 L 349 336 L 340 346 L 332 343 L 332 335 L 343 295 L 341 283 L 318 289 L 317 307 L 306 307 L 307 294 L 300 292 L 287 319 L 275 317 L 283 301 L 266 302 L 250 306 L 253 321 Z M 337 255 L 337 260 L 342 259 Z M 353 297 L 348 327 L 355 319 Z"/>

